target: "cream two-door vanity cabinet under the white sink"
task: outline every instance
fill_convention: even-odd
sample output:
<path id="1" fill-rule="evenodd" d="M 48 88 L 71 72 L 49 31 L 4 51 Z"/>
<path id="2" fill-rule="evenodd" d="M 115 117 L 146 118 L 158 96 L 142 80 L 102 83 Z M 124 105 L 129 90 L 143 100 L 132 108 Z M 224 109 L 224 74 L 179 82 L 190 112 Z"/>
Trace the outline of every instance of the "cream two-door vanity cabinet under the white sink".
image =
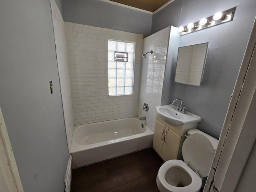
<path id="1" fill-rule="evenodd" d="M 164 160 L 182 159 L 182 144 L 189 129 L 197 128 L 197 122 L 192 124 L 172 126 L 156 115 L 153 148 Z"/>

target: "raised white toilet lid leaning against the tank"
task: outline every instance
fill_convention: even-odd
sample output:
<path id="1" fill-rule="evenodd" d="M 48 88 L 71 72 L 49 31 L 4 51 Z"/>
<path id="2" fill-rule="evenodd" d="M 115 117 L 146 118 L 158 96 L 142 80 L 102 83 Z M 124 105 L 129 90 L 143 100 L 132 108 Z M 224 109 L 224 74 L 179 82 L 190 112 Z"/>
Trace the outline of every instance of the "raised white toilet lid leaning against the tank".
<path id="1" fill-rule="evenodd" d="M 202 134 L 195 133 L 185 139 L 182 145 L 182 156 L 184 162 L 201 177 L 208 176 L 214 156 L 214 148 L 208 138 Z"/>

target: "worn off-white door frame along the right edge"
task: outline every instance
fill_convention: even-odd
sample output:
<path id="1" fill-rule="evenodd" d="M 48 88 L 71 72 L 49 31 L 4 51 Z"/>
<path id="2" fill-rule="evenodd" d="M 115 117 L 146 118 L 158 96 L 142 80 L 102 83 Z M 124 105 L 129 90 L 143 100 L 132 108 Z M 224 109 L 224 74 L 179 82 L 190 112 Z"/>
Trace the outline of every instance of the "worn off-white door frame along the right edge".
<path id="1" fill-rule="evenodd" d="M 234 192 L 256 141 L 256 20 L 204 192 Z"/>

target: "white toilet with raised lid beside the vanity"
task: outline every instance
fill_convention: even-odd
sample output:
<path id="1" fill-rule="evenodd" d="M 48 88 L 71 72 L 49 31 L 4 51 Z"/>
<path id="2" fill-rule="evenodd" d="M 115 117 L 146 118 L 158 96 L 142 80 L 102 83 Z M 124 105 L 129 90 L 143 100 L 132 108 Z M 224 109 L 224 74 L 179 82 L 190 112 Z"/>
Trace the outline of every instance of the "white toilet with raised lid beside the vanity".
<path id="1" fill-rule="evenodd" d="M 208 176 L 218 140 L 198 129 L 190 129 L 182 145 L 182 160 L 166 161 L 156 184 L 160 192 L 199 192 Z"/>

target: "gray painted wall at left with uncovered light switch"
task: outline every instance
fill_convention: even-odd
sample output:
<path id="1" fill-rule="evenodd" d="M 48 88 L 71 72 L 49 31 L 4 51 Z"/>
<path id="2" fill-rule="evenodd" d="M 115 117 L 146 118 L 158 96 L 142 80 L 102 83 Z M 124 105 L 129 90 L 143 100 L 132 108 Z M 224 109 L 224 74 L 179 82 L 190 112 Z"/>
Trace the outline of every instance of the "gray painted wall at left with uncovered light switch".
<path id="1" fill-rule="evenodd" d="M 64 191 L 69 154 L 50 0 L 2 0 L 0 15 L 0 106 L 24 191 Z"/>

